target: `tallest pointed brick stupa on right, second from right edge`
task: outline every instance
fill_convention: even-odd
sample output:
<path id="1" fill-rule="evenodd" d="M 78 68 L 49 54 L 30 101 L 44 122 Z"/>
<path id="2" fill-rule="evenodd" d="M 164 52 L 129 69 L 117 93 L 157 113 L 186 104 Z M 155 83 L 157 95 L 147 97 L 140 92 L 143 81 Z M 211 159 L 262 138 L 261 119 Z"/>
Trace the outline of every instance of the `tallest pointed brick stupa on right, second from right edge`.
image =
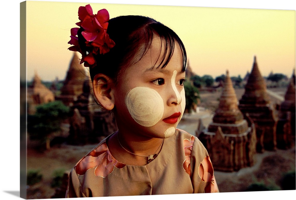
<path id="1" fill-rule="evenodd" d="M 257 135 L 257 152 L 276 149 L 275 109 L 266 91 L 266 82 L 262 77 L 256 57 L 249 75 L 245 92 L 239 100 L 239 109 L 246 118 L 247 113 L 254 121 Z"/>

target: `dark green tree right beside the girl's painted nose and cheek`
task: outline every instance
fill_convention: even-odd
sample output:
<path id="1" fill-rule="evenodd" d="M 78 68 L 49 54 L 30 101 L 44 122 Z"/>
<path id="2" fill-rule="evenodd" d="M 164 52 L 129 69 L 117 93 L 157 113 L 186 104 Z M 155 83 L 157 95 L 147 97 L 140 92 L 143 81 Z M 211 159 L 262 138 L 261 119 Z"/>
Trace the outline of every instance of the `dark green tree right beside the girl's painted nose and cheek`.
<path id="1" fill-rule="evenodd" d="M 190 113 L 194 109 L 194 105 L 197 105 L 197 99 L 200 98 L 199 91 L 189 81 L 184 83 L 184 90 L 186 98 L 185 109 Z"/>

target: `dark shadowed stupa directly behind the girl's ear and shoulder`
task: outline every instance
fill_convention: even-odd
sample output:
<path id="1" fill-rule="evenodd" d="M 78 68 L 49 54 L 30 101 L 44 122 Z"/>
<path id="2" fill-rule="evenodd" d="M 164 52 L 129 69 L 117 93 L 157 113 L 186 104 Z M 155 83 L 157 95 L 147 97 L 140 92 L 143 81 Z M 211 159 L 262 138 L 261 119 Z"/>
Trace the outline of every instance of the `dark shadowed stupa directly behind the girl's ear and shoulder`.
<path id="1" fill-rule="evenodd" d="M 94 101 L 91 79 L 83 83 L 83 92 L 73 102 L 68 142 L 71 144 L 98 143 L 118 130 L 110 111 L 104 110 Z"/>

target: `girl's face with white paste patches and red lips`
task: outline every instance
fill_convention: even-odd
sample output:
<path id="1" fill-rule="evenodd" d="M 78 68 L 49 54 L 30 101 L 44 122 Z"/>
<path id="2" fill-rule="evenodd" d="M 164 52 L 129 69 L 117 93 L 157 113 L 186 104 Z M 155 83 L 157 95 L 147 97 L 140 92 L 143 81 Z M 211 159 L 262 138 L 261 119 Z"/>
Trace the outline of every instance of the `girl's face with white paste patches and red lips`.
<path id="1" fill-rule="evenodd" d="M 114 114 L 120 132 L 167 138 L 175 133 L 185 109 L 182 54 L 175 45 L 168 65 L 161 69 L 163 55 L 156 37 L 144 57 L 120 73 L 114 88 Z M 160 60 L 159 59 L 159 60 Z"/>

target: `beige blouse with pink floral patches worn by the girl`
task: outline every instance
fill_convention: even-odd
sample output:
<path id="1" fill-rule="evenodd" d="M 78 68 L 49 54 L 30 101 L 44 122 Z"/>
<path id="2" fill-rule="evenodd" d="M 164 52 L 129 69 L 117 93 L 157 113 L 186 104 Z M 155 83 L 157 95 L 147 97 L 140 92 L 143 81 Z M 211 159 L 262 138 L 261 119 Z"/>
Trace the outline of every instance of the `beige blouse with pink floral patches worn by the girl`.
<path id="1" fill-rule="evenodd" d="M 71 170 L 67 198 L 218 192 L 207 150 L 184 130 L 164 139 L 158 156 L 144 166 L 115 160 L 109 137 Z"/>

